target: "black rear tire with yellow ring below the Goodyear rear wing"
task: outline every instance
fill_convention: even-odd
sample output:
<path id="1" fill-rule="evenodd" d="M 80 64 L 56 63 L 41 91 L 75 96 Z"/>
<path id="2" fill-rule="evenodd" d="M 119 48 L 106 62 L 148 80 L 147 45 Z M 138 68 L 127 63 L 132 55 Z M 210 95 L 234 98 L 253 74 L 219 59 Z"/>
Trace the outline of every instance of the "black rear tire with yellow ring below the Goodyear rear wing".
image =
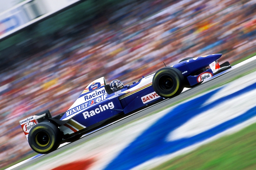
<path id="1" fill-rule="evenodd" d="M 39 154 L 48 154 L 56 150 L 61 140 L 59 128 L 48 121 L 38 123 L 29 132 L 29 146 Z"/>

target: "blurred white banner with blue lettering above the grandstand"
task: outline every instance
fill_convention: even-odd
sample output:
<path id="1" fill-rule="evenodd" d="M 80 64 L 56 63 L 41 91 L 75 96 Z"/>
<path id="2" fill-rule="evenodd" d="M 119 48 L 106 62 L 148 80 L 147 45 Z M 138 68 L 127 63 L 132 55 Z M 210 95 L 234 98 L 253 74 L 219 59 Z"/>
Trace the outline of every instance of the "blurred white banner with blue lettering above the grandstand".
<path id="1" fill-rule="evenodd" d="M 25 0 L 14 7 L 13 1 L 5 1 L 0 3 L 0 39 L 80 0 Z"/>

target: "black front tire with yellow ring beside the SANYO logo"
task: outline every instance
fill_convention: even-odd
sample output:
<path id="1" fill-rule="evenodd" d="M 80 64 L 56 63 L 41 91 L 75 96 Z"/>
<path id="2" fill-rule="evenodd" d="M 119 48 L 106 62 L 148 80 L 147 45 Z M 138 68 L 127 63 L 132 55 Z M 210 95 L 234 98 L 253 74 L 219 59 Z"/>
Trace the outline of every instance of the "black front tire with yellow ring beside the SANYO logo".
<path id="1" fill-rule="evenodd" d="M 159 96 L 172 98 L 184 89 L 184 76 L 176 68 L 165 67 L 155 73 L 152 86 Z"/>

